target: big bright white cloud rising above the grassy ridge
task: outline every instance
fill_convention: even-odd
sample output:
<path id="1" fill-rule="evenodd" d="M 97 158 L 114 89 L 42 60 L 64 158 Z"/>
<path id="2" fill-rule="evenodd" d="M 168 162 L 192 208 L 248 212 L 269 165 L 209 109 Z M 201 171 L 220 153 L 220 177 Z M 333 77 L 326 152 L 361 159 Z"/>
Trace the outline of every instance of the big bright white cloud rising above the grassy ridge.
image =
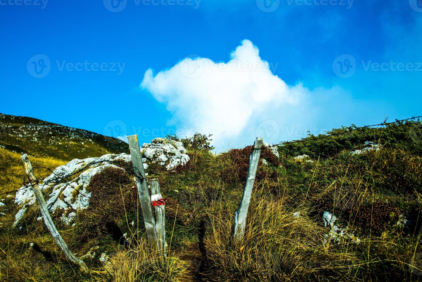
<path id="1" fill-rule="evenodd" d="M 300 138 L 285 136 L 284 127 L 305 128 L 312 93 L 300 83 L 287 85 L 271 67 L 274 64 L 261 59 L 257 46 L 243 40 L 228 62 L 194 57 L 155 76 L 149 69 L 141 88 L 167 106 L 173 114 L 169 124 L 213 134 L 218 151 L 252 144 L 257 135 L 273 143 Z"/>

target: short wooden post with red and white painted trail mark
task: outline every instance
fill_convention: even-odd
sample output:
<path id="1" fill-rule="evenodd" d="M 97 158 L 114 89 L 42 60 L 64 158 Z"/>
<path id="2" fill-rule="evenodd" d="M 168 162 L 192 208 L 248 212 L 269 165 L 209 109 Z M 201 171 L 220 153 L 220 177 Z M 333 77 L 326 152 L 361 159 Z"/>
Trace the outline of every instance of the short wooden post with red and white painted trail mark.
<path id="1" fill-rule="evenodd" d="M 151 202 L 155 210 L 156 230 L 158 237 L 158 250 L 163 256 L 166 256 L 165 247 L 165 203 L 160 192 L 160 183 L 158 179 L 151 179 L 149 182 L 151 186 Z"/>

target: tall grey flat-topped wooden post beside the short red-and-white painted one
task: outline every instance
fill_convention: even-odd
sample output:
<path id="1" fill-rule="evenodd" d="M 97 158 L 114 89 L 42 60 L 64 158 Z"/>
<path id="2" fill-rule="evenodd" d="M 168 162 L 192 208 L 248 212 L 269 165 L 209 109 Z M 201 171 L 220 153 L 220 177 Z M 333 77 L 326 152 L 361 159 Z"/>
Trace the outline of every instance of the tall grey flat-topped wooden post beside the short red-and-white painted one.
<path id="1" fill-rule="evenodd" d="M 127 136 L 129 142 L 130 155 L 132 157 L 133 169 L 135 171 L 136 185 L 138 187 L 139 201 L 145 223 L 146 236 L 149 247 L 157 248 L 157 233 L 155 230 L 154 216 L 152 215 L 151 201 L 149 198 L 148 185 L 146 184 L 145 170 L 143 169 L 141 149 L 139 148 L 138 136 Z"/>

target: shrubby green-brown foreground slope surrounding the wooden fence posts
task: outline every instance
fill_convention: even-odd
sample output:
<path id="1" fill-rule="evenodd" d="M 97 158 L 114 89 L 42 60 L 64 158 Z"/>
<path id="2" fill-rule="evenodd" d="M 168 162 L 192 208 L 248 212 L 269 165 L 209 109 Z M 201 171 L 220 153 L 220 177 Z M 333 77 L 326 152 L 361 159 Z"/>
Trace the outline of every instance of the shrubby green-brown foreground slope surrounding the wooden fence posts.
<path id="1" fill-rule="evenodd" d="M 240 244 L 231 234 L 252 147 L 214 155 L 192 141 L 186 165 L 173 172 L 159 165 L 148 169 L 147 179 L 159 179 L 166 203 L 165 263 L 145 246 L 132 175 L 113 169 L 97 174 L 90 189 L 102 197 L 78 212 L 75 226 L 64 226 L 54 214 L 70 249 L 90 268 L 85 276 L 69 266 L 36 220 L 36 207 L 12 227 L 16 208 L 6 198 L 0 279 L 421 281 L 421 128 L 419 121 L 344 127 L 333 130 L 334 136 L 280 146 L 279 159 L 262 150 L 268 165 L 260 162 Z M 350 154 L 365 141 L 380 149 Z M 312 162 L 294 159 L 303 154 Z M 333 226 L 324 226 L 324 212 L 337 218 Z M 124 233 L 129 244 L 121 240 Z M 100 262 L 103 253 L 110 263 Z"/>

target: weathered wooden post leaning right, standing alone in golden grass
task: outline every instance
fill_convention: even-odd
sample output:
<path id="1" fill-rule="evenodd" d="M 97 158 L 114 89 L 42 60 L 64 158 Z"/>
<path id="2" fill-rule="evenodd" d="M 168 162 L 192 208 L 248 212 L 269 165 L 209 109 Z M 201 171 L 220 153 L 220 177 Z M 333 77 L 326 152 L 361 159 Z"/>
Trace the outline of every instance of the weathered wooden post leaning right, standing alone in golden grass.
<path id="1" fill-rule="evenodd" d="M 242 200 L 239 209 L 235 212 L 235 226 L 233 237 L 235 241 L 243 239 L 245 233 L 246 216 L 248 215 L 249 202 L 251 201 L 252 188 L 254 187 L 255 175 L 257 174 L 258 162 L 262 149 L 262 138 L 258 137 L 254 142 L 254 149 L 249 157 L 249 170 L 243 189 Z"/>

